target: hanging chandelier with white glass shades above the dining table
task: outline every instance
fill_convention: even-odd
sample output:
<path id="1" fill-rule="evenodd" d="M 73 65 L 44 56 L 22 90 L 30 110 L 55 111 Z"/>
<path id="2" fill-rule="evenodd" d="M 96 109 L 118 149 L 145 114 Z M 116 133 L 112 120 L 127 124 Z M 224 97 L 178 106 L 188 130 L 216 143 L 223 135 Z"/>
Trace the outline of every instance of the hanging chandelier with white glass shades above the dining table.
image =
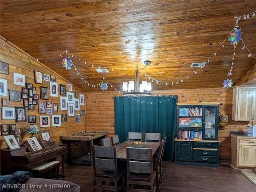
<path id="1" fill-rule="evenodd" d="M 144 64 L 147 66 L 151 62 L 150 61 L 144 61 Z M 145 67 L 146 67 L 145 66 Z M 144 67 L 144 68 L 145 68 Z M 144 69 L 143 68 L 143 69 Z M 151 95 L 151 82 L 144 81 L 142 78 L 142 83 L 139 84 L 139 75 L 142 78 L 142 75 L 140 74 L 140 71 L 138 70 L 138 65 L 136 66 L 136 71 L 132 77 L 132 80 L 128 82 L 123 82 L 123 95 L 124 96 L 150 96 Z M 134 86 L 134 76 L 135 76 L 135 86 Z"/>

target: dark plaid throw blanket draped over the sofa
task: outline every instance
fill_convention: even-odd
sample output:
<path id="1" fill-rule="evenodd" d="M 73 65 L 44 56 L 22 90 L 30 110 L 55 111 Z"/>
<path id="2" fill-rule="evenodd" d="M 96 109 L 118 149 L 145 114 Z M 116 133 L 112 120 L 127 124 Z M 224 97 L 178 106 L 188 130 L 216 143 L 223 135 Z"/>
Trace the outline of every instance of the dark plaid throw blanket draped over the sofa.
<path id="1" fill-rule="evenodd" d="M 1 175 L 0 191 L 18 192 L 22 188 L 22 184 L 25 184 L 30 177 L 32 177 L 32 174 L 28 171 L 17 171 L 12 175 Z"/>

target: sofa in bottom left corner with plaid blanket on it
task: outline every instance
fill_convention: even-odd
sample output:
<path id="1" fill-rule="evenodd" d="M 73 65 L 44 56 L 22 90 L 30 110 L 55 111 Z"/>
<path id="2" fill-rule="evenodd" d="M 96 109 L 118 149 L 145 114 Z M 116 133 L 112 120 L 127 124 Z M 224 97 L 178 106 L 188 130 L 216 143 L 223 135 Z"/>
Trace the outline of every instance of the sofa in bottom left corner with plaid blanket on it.
<path id="1" fill-rule="evenodd" d="M 80 192 L 78 184 L 53 179 L 34 178 L 28 171 L 1 175 L 1 192 Z"/>

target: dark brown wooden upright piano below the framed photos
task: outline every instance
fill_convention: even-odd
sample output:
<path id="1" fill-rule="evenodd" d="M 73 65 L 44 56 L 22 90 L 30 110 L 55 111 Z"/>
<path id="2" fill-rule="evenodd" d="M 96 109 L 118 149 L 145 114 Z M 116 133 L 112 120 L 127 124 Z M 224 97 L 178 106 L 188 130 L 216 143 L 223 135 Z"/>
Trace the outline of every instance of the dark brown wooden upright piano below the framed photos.
<path id="1" fill-rule="evenodd" d="M 15 149 L 1 149 L 1 175 L 12 174 L 18 170 L 27 170 L 31 166 L 62 156 L 62 174 L 64 174 L 64 154 L 67 145 L 54 144 L 36 151 L 28 151 L 27 146 Z"/>

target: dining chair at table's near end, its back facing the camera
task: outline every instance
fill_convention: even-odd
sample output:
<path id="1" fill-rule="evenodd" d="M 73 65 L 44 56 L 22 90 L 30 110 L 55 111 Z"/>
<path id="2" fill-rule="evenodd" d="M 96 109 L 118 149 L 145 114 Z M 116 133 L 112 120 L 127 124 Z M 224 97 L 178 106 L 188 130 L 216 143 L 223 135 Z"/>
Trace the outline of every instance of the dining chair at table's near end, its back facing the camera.
<path id="1" fill-rule="evenodd" d="M 152 148 L 126 148 L 126 192 L 155 192 Z"/>

